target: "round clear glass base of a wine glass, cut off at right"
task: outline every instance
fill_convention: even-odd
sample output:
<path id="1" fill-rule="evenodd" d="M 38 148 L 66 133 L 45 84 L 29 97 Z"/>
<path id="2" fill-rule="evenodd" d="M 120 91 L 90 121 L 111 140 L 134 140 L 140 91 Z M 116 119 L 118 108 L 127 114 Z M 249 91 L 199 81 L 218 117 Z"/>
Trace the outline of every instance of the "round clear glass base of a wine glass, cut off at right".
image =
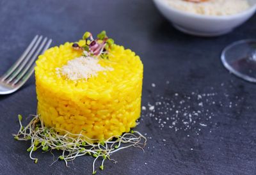
<path id="1" fill-rule="evenodd" d="M 241 40 L 221 53 L 223 65 L 241 79 L 256 82 L 256 40 Z"/>

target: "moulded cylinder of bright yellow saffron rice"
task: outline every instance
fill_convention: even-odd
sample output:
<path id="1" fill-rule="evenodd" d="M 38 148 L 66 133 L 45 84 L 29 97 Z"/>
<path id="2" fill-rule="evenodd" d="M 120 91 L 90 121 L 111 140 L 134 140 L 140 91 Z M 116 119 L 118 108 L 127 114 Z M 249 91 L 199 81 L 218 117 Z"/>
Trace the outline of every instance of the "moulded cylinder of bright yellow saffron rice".
<path id="1" fill-rule="evenodd" d="M 80 41 L 79 45 L 83 45 Z M 109 59 L 100 59 L 102 67 L 88 80 L 68 80 L 56 68 L 82 55 L 72 43 L 52 47 L 36 61 L 38 114 L 44 125 L 81 133 L 90 139 L 106 141 L 136 126 L 141 112 L 143 65 L 134 52 L 119 45 L 109 50 Z"/>

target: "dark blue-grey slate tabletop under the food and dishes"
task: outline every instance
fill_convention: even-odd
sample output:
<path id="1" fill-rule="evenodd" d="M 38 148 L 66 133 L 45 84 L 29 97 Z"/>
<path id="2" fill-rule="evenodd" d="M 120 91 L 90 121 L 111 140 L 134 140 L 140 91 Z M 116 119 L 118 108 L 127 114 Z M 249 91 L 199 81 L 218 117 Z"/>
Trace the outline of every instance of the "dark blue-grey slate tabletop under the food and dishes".
<path id="1" fill-rule="evenodd" d="M 189 130 L 184 130 L 182 115 L 175 127 L 183 128 L 176 132 L 169 128 L 172 120 L 166 119 L 175 116 L 175 110 L 167 114 L 157 108 L 156 112 L 143 111 L 136 130 L 147 133 L 145 153 L 134 148 L 115 153 L 118 164 L 106 162 L 98 174 L 256 174 L 256 86 L 237 79 L 220 62 L 223 47 L 255 38 L 255 23 L 253 17 L 225 36 L 198 38 L 176 31 L 148 0 L 1 0 L 0 74 L 35 34 L 49 36 L 54 40 L 52 45 L 59 45 L 78 40 L 84 31 L 105 29 L 117 43 L 141 56 L 145 66 L 142 103 L 146 107 L 156 101 L 162 106 L 172 101 L 179 107 L 180 100 L 185 100 L 191 106 L 188 112 L 193 112 L 200 102 L 197 94 L 216 95 L 203 98 L 200 110 L 204 112 L 194 116 L 196 123 Z M 50 153 L 36 153 L 38 164 L 29 159 L 29 143 L 15 141 L 12 133 L 19 128 L 17 114 L 35 112 L 34 77 L 17 93 L 0 96 L 0 174 L 90 174 L 93 159 L 88 156 L 77 158 L 70 168 L 63 162 L 49 166 Z M 150 113 L 167 122 L 164 128 L 159 128 L 158 119 L 150 118 Z M 207 126 L 200 126 L 200 122 Z"/>

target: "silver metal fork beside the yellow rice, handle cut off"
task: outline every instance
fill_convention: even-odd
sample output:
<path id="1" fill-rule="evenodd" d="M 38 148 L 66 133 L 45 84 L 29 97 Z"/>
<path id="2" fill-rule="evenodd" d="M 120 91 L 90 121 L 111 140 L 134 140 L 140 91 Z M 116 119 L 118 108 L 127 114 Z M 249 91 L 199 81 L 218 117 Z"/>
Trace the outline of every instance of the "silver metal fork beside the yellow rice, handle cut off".
<path id="1" fill-rule="evenodd" d="M 0 77 L 0 95 L 17 91 L 35 71 L 36 58 L 45 52 L 52 39 L 36 35 L 20 58 Z"/>

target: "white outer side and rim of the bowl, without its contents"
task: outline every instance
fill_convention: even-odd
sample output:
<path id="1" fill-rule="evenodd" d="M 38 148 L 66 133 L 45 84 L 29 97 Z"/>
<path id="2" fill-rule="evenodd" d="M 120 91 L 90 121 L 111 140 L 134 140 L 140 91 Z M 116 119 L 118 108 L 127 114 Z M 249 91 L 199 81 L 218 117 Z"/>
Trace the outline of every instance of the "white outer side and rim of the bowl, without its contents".
<path id="1" fill-rule="evenodd" d="M 226 16 L 198 15 L 172 8 L 164 0 L 153 0 L 157 8 L 180 31 L 197 36 L 219 36 L 232 31 L 256 11 L 256 0 L 248 0 L 250 8 L 241 13 Z"/>

